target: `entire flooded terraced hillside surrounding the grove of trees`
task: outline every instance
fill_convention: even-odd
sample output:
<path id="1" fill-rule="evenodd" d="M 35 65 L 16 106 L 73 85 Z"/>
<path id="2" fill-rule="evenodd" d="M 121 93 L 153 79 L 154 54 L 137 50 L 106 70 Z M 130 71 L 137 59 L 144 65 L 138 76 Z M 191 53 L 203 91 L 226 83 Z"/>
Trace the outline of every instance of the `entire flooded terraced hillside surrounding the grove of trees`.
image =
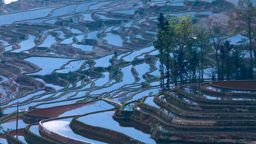
<path id="1" fill-rule="evenodd" d="M 160 61 L 153 46 L 159 13 L 168 18 L 188 13 L 200 21 L 229 17 L 236 6 L 224 0 L 195 4 L 192 0 L 6 1 L 0 8 L 4 130 L 16 128 L 17 101 L 19 109 L 28 112 L 19 113 L 18 133 L 2 134 L 0 142 L 253 142 L 255 88 L 206 83 L 200 92 L 198 85 L 189 85 L 161 93 Z M 227 38 L 235 44 L 243 36 L 230 32 Z M 213 54 L 209 49 L 205 80 L 210 80 L 207 70 Z M 43 121 L 38 124 L 35 119 Z"/>

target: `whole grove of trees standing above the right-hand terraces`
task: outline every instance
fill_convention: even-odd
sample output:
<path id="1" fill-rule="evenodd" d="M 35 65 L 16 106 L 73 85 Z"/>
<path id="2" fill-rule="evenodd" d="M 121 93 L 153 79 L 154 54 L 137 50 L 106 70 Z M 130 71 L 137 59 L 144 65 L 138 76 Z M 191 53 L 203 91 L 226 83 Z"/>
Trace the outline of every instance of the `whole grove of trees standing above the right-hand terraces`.
<path id="1" fill-rule="evenodd" d="M 204 76 L 213 81 L 254 78 L 256 28 L 253 24 L 256 23 L 256 7 L 251 0 L 239 0 L 234 12 L 235 16 L 229 22 L 216 18 L 200 24 L 196 24 L 188 14 L 171 19 L 159 14 L 159 31 L 154 46 L 159 51 L 163 91 L 169 90 L 171 83 L 177 86 L 199 80 L 204 82 Z M 238 42 L 243 50 L 248 50 L 248 58 L 241 49 L 230 44 L 227 23 L 234 34 L 242 33 L 248 37 Z"/>

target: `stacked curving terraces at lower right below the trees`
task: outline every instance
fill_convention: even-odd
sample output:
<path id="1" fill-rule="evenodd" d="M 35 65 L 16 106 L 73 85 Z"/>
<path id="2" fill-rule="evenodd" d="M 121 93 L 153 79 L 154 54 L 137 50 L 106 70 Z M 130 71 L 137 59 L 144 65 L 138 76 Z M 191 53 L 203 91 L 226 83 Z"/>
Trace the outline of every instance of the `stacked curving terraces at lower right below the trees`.
<path id="1" fill-rule="evenodd" d="M 238 83 L 246 85 L 251 82 L 255 81 Z M 221 83 L 225 87 L 204 83 L 199 90 L 198 84 L 194 84 L 174 87 L 156 96 L 145 96 L 135 104 L 122 106 L 113 118 L 145 126 L 156 143 L 255 142 L 255 89 L 238 90 L 230 87 L 236 85 L 236 82 Z M 77 120 L 81 121 L 81 118 Z M 75 118 L 73 121 L 76 122 Z M 75 124 L 74 131 L 80 134 L 82 130 Z"/>

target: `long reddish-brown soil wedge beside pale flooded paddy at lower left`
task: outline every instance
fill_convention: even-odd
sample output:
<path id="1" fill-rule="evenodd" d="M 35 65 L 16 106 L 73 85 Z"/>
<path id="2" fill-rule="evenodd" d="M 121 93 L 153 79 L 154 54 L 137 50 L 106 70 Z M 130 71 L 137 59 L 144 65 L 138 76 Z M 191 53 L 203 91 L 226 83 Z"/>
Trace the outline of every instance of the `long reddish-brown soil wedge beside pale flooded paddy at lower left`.
<path id="1" fill-rule="evenodd" d="M 67 106 L 58 106 L 54 108 L 44 108 L 39 110 L 33 110 L 31 112 L 28 112 L 28 114 L 35 114 L 39 116 L 50 116 L 52 118 L 56 118 L 63 114 L 64 112 L 74 110 L 76 108 L 80 108 L 85 105 L 91 105 L 95 102 L 89 102 L 89 103 L 82 103 L 82 104 L 73 104 L 73 105 L 67 105 Z"/>

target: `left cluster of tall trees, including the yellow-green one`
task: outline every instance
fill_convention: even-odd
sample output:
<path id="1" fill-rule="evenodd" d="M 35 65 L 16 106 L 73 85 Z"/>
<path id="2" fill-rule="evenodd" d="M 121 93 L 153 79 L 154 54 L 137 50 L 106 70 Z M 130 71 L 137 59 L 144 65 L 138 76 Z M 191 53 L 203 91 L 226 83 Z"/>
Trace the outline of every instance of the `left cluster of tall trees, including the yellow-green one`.
<path id="1" fill-rule="evenodd" d="M 183 15 L 183 17 L 174 17 L 168 20 L 162 14 L 158 17 L 158 28 L 160 30 L 156 35 L 158 40 L 154 42 L 154 46 L 160 53 L 161 65 L 159 70 L 161 72 L 160 78 L 162 79 L 160 84 L 163 85 L 165 83 L 164 77 L 166 77 L 167 90 L 169 90 L 171 80 L 175 85 L 177 85 L 179 79 L 181 80 L 180 84 L 185 83 L 185 78 L 188 75 L 186 73 L 187 69 L 189 71 L 193 69 L 192 78 L 196 79 L 196 62 L 198 62 L 197 40 L 194 38 L 196 26 L 193 25 L 194 18 L 192 18 L 191 14 Z M 207 39 L 208 37 L 204 38 Z M 170 57 L 170 53 L 172 53 L 172 57 Z M 189 62 L 186 60 L 188 58 L 187 54 L 189 54 Z M 164 68 L 163 63 L 165 63 L 166 68 Z M 166 76 L 163 75 L 164 73 L 166 73 Z"/>

